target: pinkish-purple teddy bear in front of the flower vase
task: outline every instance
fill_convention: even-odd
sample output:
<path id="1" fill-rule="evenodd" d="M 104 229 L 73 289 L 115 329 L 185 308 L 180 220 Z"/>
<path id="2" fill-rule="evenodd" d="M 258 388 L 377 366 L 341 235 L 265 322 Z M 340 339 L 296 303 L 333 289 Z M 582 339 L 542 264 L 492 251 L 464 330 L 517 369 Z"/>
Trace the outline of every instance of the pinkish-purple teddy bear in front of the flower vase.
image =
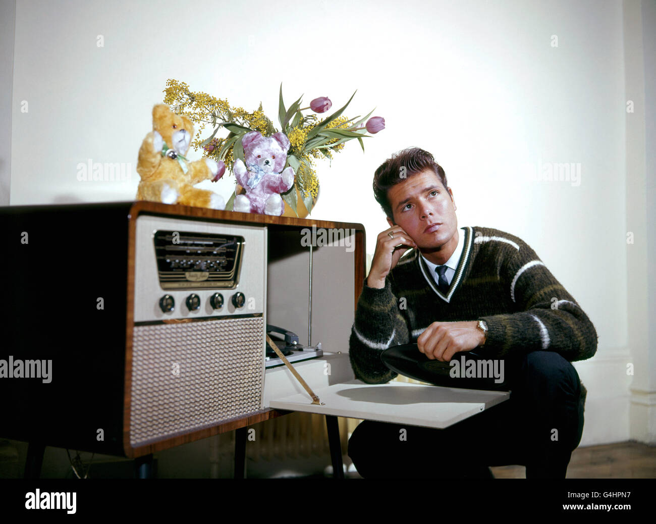
<path id="1" fill-rule="evenodd" d="M 246 190 L 246 194 L 235 197 L 233 211 L 282 215 L 285 202 L 279 193 L 294 185 L 294 169 L 287 167 L 283 171 L 289 139 L 285 133 L 263 137 L 259 131 L 251 131 L 243 136 L 241 144 L 246 165 L 237 159 L 233 171 L 237 183 Z"/>

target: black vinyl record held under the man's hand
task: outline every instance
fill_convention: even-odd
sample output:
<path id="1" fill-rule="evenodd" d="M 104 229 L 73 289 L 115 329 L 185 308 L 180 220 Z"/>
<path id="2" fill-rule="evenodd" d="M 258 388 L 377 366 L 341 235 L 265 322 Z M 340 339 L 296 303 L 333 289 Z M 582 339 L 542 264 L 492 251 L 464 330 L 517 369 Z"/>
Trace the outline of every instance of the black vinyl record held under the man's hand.
<path id="1" fill-rule="evenodd" d="M 421 382 L 445 387 L 510 391 L 503 360 L 483 359 L 472 351 L 456 353 L 451 362 L 431 360 L 417 344 L 403 344 L 384 350 L 380 359 L 390 370 Z M 471 362 L 471 363 L 470 363 Z"/>

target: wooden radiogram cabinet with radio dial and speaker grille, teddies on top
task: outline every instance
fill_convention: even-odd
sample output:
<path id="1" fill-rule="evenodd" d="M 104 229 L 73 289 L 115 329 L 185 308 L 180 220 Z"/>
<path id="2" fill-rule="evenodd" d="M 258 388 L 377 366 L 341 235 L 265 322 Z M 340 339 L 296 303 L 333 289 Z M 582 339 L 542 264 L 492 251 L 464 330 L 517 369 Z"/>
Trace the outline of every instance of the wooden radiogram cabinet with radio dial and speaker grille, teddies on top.
<path id="1" fill-rule="evenodd" d="M 359 224 L 153 202 L 0 221 L 0 437 L 146 456 L 284 413 L 264 403 L 266 324 L 348 351 Z"/>

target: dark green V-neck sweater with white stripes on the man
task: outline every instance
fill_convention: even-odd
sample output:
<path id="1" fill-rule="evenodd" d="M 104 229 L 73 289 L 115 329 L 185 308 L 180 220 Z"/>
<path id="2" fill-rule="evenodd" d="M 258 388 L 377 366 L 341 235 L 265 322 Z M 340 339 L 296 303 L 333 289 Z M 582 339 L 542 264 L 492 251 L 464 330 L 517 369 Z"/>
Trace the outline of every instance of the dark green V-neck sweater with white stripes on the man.
<path id="1" fill-rule="evenodd" d="M 528 244 L 498 229 L 463 227 L 463 232 L 447 295 L 414 249 L 390 271 L 384 288 L 370 288 L 365 280 L 350 337 L 356 378 L 367 383 L 395 378 L 380 360 L 382 350 L 416 342 L 436 321 L 485 320 L 489 332 L 478 353 L 490 359 L 556 351 L 573 362 L 596 353 L 592 322 Z M 581 388 L 584 403 L 583 383 Z"/>

